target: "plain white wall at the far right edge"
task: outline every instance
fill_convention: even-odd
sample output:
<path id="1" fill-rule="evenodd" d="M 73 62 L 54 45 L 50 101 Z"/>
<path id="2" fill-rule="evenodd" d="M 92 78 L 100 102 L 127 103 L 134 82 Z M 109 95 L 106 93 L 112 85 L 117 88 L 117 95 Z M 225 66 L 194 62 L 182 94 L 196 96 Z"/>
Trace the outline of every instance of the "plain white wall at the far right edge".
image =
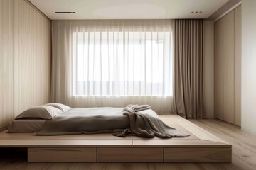
<path id="1" fill-rule="evenodd" d="M 242 0 L 242 130 L 256 134 L 255 9 L 255 0 Z"/>

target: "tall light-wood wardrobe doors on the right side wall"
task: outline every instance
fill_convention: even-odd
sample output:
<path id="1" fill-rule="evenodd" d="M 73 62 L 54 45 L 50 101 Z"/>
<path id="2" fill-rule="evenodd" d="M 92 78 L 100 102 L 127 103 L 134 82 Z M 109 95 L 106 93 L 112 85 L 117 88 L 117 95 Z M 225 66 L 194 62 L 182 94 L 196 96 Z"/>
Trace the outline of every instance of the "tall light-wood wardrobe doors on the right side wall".
<path id="1" fill-rule="evenodd" d="M 241 6 L 215 22 L 215 118 L 241 125 Z"/>

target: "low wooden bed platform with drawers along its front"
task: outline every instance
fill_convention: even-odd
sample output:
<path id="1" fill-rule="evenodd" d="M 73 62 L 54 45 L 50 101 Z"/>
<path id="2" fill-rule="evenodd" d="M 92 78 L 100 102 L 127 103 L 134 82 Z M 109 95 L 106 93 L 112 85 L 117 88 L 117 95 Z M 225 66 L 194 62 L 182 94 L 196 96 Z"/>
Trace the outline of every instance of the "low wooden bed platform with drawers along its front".
<path id="1" fill-rule="evenodd" d="M 191 136 L 161 139 L 111 134 L 0 133 L 0 147 L 28 148 L 28 162 L 231 162 L 232 146 L 178 115 L 159 115 Z"/>

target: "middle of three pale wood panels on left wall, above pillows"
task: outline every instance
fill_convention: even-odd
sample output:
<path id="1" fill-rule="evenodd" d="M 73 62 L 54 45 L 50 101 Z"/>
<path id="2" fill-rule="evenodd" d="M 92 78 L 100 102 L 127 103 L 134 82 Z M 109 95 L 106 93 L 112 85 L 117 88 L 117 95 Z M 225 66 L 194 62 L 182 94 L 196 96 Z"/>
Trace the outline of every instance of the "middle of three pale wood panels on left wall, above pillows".
<path id="1" fill-rule="evenodd" d="M 14 116 L 33 106 L 33 8 L 14 1 Z"/>

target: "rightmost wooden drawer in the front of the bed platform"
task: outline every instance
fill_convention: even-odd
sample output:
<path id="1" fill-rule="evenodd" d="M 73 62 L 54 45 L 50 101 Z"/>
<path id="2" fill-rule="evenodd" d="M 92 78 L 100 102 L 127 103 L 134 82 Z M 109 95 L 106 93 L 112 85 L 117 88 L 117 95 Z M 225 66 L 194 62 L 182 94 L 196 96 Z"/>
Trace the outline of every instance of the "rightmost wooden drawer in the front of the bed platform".
<path id="1" fill-rule="evenodd" d="M 231 162 L 231 147 L 164 148 L 164 162 Z"/>

